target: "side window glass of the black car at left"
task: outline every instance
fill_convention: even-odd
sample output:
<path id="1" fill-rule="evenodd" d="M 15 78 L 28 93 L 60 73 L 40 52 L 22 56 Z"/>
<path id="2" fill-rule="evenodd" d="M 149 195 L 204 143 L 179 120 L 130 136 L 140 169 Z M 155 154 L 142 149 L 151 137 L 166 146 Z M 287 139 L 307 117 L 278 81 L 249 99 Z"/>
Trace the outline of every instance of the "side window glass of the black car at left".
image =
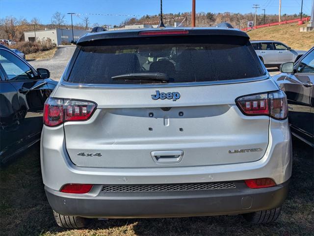
<path id="1" fill-rule="evenodd" d="M 0 50 L 0 64 L 9 80 L 34 79 L 34 74 L 30 67 L 12 53 Z"/>

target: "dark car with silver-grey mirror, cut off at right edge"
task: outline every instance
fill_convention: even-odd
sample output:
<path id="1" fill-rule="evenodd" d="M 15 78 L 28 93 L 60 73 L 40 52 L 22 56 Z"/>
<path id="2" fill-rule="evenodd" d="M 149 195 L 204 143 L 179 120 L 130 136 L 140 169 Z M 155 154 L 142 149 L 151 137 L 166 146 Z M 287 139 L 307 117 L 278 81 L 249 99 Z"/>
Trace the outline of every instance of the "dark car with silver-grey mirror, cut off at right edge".
<path id="1" fill-rule="evenodd" d="M 314 47 L 280 71 L 273 79 L 287 94 L 291 133 L 314 147 Z"/>

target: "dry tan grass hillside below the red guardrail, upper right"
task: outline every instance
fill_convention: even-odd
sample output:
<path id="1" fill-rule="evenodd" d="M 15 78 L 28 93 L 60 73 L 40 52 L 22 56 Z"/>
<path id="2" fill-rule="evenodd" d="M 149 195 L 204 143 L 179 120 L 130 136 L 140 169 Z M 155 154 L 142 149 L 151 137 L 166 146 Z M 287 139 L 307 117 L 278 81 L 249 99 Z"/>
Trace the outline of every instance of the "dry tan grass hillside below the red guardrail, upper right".
<path id="1" fill-rule="evenodd" d="M 287 44 L 292 49 L 309 50 L 314 46 L 314 31 L 300 32 L 300 27 L 295 24 L 271 26 L 248 31 L 250 40 L 278 40 Z"/>

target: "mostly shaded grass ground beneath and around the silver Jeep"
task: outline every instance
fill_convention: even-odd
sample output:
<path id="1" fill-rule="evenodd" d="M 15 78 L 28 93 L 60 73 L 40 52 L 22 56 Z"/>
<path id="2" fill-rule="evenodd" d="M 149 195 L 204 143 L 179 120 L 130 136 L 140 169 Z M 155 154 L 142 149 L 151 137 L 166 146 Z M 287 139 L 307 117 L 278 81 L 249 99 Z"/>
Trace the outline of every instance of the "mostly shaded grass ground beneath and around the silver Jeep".
<path id="1" fill-rule="evenodd" d="M 276 223 L 250 225 L 241 216 L 95 220 L 86 229 L 58 228 L 41 179 L 39 146 L 2 167 L 0 235 L 14 236 L 268 236 L 313 235 L 313 149 L 293 141 L 293 174 L 288 199 Z"/>

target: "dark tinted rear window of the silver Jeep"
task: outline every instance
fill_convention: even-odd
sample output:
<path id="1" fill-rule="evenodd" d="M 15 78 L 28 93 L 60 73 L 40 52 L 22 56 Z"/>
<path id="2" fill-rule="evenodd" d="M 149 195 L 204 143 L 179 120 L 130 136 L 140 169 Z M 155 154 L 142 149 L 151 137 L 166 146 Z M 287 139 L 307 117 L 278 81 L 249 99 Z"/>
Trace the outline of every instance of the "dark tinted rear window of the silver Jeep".
<path id="1" fill-rule="evenodd" d="M 168 83 L 259 77 L 265 72 L 247 38 L 238 36 L 139 37 L 79 46 L 68 81 L 79 84 L 155 84 L 112 77 L 164 73 Z"/>

